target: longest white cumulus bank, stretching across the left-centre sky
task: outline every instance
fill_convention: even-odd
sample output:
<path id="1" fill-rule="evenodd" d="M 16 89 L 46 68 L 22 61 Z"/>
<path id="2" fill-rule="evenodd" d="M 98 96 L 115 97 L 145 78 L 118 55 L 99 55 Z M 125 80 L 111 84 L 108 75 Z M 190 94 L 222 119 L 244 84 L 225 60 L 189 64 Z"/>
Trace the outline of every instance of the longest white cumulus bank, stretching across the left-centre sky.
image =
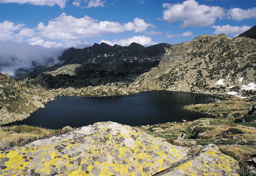
<path id="1" fill-rule="evenodd" d="M 45 26 L 42 22 L 38 24 L 37 30 L 40 31 L 42 37 L 49 39 L 78 39 L 84 37 L 96 37 L 102 34 L 120 33 L 125 30 L 134 30 L 134 32 L 143 32 L 149 26 L 155 28 L 154 25 L 144 22 L 140 18 L 135 18 L 134 22 L 120 24 L 118 22 L 94 20 L 89 16 L 83 18 L 75 18 L 62 13 L 60 16 L 50 20 Z"/>

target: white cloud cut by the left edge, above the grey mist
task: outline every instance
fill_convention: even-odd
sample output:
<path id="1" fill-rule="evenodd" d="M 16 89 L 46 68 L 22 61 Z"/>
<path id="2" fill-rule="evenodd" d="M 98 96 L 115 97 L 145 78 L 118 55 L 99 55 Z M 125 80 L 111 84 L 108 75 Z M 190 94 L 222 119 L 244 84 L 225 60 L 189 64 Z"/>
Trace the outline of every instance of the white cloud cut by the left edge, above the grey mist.
<path id="1" fill-rule="evenodd" d="M 13 22 L 4 21 L 0 23 L 0 40 L 11 40 L 14 38 L 14 31 L 21 30 L 25 24 L 15 25 Z"/>

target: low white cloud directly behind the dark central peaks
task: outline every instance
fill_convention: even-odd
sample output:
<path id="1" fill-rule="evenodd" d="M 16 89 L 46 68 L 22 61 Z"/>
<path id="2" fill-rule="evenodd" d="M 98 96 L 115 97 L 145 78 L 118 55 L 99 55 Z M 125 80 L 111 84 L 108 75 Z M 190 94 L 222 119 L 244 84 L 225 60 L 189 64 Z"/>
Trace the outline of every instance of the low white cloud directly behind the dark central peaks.
<path id="1" fill-rule="evenodd" d="M 146 36 L 134 36 L 132 38 L 127 38 L 127 39 L 122 39 L 122 40 L 113 40 L 112 42 L 110 42 L 108 40 L 101 40 L 100 43 L 102 43 L 102 42 L 112 45 L 112 46 L 114 44 L 121 45 L 121 46 L 128 46 L 132 42 L 136 42 L 136 43 L 144 45 L 144 46 L 157 44 L 156 42 L 153 42 L 150 37 L 146 37 Z"/>

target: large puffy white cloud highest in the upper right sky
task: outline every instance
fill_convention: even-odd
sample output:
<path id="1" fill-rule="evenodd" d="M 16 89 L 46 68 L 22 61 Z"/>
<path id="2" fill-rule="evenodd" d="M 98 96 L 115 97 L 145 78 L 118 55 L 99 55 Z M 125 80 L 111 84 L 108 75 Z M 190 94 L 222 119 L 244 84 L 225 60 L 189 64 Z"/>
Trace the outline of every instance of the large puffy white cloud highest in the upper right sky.
<path id="1" fill-rule="evenodd" d="M 195 0 L 186 0 L 182 4 L 163 4 L 163 19 L 167 22 L 182 21 L 180 27 L 206 27 L 222 18 L 224 9 L 219 6 L 198 5 Z"/>

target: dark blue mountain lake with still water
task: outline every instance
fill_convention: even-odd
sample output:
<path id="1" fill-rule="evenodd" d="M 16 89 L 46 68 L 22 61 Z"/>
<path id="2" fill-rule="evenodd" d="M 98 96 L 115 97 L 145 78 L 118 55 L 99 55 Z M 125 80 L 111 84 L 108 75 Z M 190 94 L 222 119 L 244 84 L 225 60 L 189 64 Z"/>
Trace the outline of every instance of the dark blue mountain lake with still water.
<path id="1" fill-rule="evenodd" d="M 183 109 L 184 105 L 220 101 L 205 94 L 150 91 L 113 97 L 57 97 L 16 125 L 60 129 L 113 121 L 131 126 L 192 121 L 206 115 Z"/>

